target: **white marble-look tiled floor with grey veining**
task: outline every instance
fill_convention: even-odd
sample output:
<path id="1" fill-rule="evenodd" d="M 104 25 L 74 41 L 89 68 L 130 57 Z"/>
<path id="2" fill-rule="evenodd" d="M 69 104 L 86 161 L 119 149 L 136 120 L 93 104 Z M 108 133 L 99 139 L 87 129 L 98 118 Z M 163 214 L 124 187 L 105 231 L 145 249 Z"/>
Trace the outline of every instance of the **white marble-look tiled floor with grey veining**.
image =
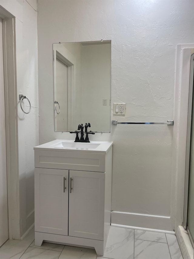
<path id="1" fill-rule="evenodd" d="M 1 259 L 183 259 L 176 236 L 111 227 L 104 256 L 95 250 L 43 242 L 35 246 L 34 229 L 23 240 L 8 240 Z"/>

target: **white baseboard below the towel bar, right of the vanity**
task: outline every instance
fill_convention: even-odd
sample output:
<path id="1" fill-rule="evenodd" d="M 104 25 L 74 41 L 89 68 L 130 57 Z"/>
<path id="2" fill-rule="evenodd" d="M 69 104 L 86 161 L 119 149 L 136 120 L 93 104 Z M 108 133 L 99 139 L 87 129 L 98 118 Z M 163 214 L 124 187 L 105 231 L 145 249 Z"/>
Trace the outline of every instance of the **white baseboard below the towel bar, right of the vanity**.
<path id="1" fill-rule="evenodd" d="M 112 211 L 111 223 L 138 228 L 140 227 L 143 229 L 157 229 L 173 232 L 170 216 L 157 216 L 149 214 Z"/>

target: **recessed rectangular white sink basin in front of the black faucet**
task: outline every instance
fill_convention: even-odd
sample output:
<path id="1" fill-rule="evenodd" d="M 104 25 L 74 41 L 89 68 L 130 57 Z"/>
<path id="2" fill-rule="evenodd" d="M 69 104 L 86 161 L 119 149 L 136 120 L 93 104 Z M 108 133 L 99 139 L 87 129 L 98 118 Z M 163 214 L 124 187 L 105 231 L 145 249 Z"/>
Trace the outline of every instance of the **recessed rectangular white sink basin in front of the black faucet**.
<path id="1" fill-rule="evenodd" d="M 60 141 L 59 143 L 56 143 L 54 145 L 51 145 L 51 147 L 56 147 L 56 148 L 73 148 L 73 149 L 95 149 L 99 146 L 100 144 L 97 143 L 80 143 L 80 142 L 65 142 L 65 141 Z"/>

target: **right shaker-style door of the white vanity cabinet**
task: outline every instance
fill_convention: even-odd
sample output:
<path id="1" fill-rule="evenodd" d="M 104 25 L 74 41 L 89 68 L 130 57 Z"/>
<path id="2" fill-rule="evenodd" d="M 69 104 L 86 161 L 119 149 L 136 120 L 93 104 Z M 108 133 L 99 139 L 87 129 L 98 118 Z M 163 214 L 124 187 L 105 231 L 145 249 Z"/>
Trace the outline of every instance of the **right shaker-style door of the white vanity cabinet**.
<path id="1" fill-rule="evenodd" d="M 105 173 L 69 171 L 69 236 L 104 239 L 104 198 Z"/>

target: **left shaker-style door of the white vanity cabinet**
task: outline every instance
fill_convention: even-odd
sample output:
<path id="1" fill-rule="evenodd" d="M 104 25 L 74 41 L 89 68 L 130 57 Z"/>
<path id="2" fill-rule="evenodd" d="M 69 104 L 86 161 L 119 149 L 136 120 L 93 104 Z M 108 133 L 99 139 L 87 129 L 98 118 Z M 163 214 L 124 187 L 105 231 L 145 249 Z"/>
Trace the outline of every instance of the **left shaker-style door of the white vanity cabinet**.
<path id="1" fill-rule="evenodd" d="M 68 235 L 68 184 L 68 170 L 35 168 L 35 231 Z"/>

